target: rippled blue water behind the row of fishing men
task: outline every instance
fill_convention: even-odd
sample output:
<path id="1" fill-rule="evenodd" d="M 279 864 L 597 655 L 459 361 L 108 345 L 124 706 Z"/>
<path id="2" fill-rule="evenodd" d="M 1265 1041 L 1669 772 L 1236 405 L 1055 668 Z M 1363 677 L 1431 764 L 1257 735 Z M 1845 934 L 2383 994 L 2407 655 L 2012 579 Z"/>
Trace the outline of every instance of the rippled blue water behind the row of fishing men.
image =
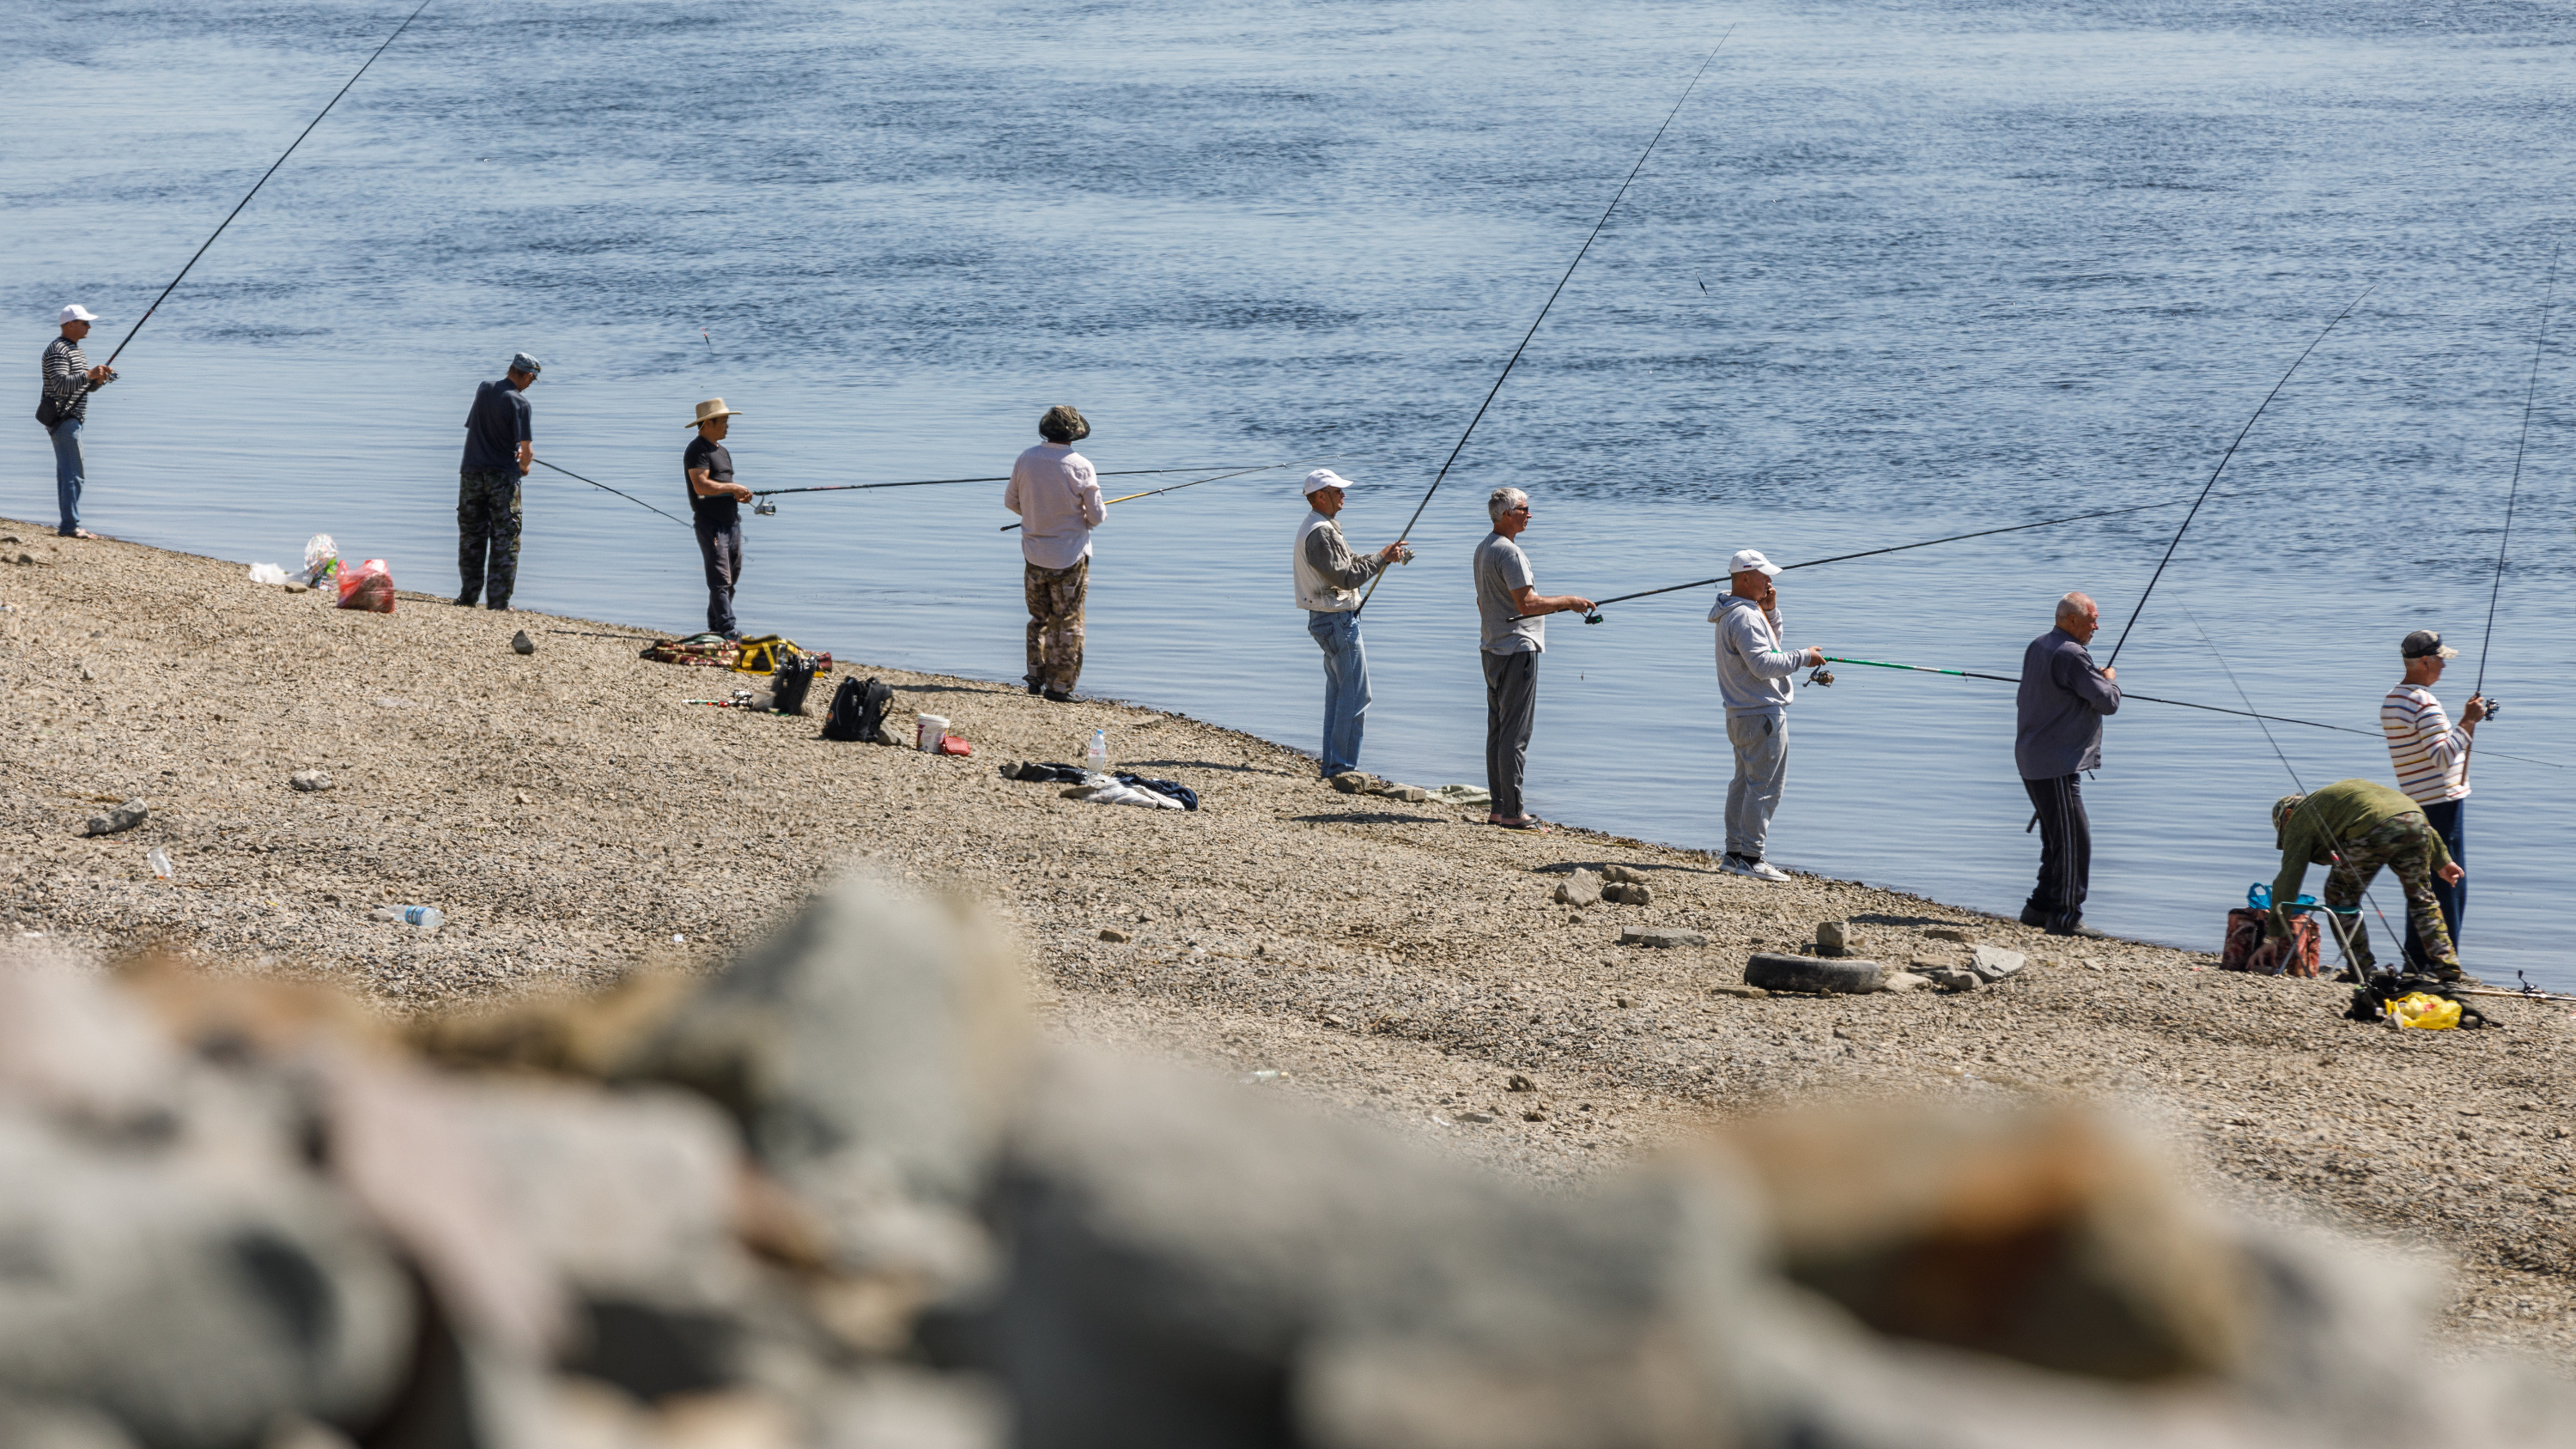
<path id="1" fill-rule="evenodd" d="M 0 314 L 28 373 L 62 301 L 131 322 L 402 8 L 21 15 Z M 541 456 L 672 512 L 701 396 L 744 409 L 752 486 L 1005 471 L 1077 401 L 1103 468 L 1332 458 L 1376 546 L 1726 26 L 1368 613 L 1368 767 L 1481 780 L 1466 553 L 1497 484 L 1535 494 L 1540 589 L 1589 595 L 1744 546 L 1816 558 L 2190 494 L 2372 281 L 2192 525 L 2123 682 L 2236 703 L 2223 656 L 2264 710 L 2372 728 L 2396 638 L 2432 625 L 2468 649 L 2452 705 L 2481 664 L 2509 700 L 2491 749 L 2576 757 L 2558 347 L 2478 649 L 2576 180 L 2555 5 L 438 0 L 124 358 L 90 522 L 289 564 L 327 530 L 448 589 L 456 422 L 526 347 L 549 363 Z M 0 507 L 49 517 L 21 427 Z M 1293 476 L 1113 515 L 1090 690 L 1314 744 Z M 2012 674 L 2063 589 L 2117 633 L 2177 517 L 1790 574 L 1790 636 Z M 750 525 L 744 620 L 1015 677 L 999 522 L 997 484 L 786 499 Z M 520 602 L 696 628 L 696 574 L 672 522 L 531 479 Z M 1718 844 L 1708 602 L 1551 625 L 1538 811 Z M 2038 842 L 2012 690 L 1839 677 L 1793 713 L 1772 854 L 2014 909 Z M 2388 777 L 2375 739 L 2275 728 L 2311 785 Z M 1066 754 L 1084 731 L 1069 710 Z M 2123 710 L 2087 785 L 2092 921 L 2215 947 L 2272 872 L 2287 785 L 2249 721 Z M 2470 963 L 2576 986 L 2576 775 L 2481 757 L 2476 785 Z"/>

